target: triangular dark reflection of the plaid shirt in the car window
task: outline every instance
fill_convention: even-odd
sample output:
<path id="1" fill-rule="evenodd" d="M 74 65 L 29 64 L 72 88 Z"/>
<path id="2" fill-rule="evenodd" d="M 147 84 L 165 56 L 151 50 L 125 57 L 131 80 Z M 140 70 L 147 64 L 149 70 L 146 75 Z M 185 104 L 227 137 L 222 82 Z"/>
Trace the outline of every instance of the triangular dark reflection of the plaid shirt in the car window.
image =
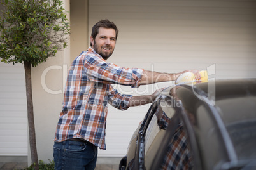
<path id="1" fill-rule="evenodd" d="M 174 133 L 173 139 L 169 143 L 167 154 L 164 157 L 161 169 L 193 169 L 190 148 L 182 124 L 178 126 Z"/>

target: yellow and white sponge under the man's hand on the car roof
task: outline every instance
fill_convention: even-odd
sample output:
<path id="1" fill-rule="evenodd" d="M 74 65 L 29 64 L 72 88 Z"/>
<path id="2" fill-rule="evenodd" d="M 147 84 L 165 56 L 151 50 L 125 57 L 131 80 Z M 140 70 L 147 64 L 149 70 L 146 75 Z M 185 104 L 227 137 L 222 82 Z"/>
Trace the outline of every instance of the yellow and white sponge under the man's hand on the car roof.
<path id="1" fill-rule="evenodd" d="M 202 70 L 199 72 L 201 79 L 195 80 L 195 75 L 192 72 L 185 72 L 176 79 L 175 84 L 196 84 L 198 82 L 208 82 L 207 71 Z"/>

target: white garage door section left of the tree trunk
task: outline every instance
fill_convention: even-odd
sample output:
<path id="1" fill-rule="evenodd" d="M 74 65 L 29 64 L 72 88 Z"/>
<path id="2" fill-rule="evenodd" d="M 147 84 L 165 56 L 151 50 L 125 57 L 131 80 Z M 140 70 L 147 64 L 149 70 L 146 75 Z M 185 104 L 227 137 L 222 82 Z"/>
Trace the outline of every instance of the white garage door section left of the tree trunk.
<path id="1" fill-rule="evenodd" d="M 0 63 L 0 156 L 27 156 L 24 66 Z"/>

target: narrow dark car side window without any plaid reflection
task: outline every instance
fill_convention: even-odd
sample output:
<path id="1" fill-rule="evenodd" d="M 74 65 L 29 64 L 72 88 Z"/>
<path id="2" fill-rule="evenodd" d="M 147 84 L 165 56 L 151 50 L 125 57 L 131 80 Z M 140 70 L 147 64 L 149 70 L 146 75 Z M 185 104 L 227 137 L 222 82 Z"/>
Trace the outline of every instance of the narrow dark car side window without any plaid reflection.
<path id="1" fill-rule="evenodd" d="M 225 145 L 212 115 L 204 105 L 197 108 L 196 117 L 194 129 L 203 169 L 212 169 L 221 161 L 227 161 Z"/>

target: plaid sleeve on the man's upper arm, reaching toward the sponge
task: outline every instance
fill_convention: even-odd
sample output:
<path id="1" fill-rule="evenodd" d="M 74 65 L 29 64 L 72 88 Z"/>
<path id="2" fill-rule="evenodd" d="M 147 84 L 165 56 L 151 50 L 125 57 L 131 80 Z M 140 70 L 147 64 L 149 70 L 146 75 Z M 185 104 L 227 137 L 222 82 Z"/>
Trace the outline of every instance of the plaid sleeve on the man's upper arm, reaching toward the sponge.
<path id="1" fill-rule="evenodd" d="M 90 81 L 130 85 L 132 88 L 139 87 L 144 71 L 143 69 L 127 69 L 113 63 L 107 63 L 106 60 L 97 54 L 87 55 L 84 67 Z"/>

